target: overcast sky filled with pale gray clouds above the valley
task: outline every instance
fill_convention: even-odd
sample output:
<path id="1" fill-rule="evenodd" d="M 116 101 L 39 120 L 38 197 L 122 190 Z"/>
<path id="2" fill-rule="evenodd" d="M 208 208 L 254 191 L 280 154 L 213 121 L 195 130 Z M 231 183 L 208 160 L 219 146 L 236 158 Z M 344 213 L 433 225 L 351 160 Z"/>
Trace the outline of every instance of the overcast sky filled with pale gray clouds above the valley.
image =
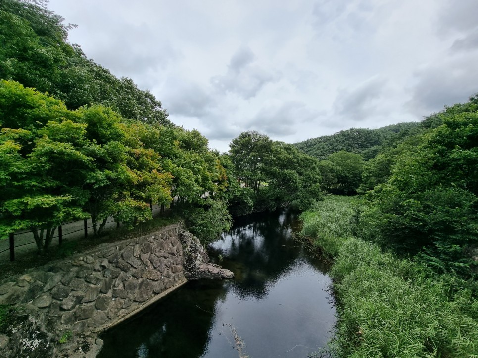
<path id="1" fill-rule="evenodd" d="M 478 0 L 50 0 L 211 148 L 417 121 L 478 92 Z"/>

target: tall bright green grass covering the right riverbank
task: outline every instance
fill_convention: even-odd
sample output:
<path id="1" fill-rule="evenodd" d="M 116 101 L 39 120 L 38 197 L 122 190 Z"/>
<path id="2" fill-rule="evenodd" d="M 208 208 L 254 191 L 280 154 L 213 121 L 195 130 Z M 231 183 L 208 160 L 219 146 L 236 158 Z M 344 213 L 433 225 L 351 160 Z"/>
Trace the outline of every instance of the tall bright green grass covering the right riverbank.
<path id="1" fill-rule="evenodd" d="M 302 234 L 334 259 L 336 357 L 478 357 L 478 301 L 464 282 L 359 238 L 359 202 L 327 197 Z"/>

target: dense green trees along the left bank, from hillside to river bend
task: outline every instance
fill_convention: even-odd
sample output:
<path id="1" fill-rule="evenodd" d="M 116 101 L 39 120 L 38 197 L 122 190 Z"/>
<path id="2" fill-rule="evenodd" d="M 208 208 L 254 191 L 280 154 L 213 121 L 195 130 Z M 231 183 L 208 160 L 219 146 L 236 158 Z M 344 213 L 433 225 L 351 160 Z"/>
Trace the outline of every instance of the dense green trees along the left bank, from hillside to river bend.
<path id="1" fill-rule="evenodd" d="M 151 93 L 70 45 L 62 21 L 42 3 L 0 3 L 3 238 L 31 230 L 44 253 L 63 222 L 91 218 L 101 235 L 108 217 L 132 227 L 157 204 L 207 242 L 231 214 L 320 199 L 318 160 L 256 132 L 211 151 Z"/>

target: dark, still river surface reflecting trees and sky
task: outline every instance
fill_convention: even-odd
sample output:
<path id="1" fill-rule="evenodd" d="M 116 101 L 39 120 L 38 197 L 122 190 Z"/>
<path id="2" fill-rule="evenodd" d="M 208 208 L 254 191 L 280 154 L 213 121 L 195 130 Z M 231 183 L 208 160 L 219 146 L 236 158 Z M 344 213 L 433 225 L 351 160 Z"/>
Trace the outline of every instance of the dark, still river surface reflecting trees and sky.
<path id="1" fill-rule="evenodd" d="M 98 357 L 307 357 L 335 323 L 328 267 L 294 241 L 288 212 L 241 218 L 210 245 L 234 280 L 189 282 L 106 332 Z M 234 335 L 236 333 L 236 335 Z"/>

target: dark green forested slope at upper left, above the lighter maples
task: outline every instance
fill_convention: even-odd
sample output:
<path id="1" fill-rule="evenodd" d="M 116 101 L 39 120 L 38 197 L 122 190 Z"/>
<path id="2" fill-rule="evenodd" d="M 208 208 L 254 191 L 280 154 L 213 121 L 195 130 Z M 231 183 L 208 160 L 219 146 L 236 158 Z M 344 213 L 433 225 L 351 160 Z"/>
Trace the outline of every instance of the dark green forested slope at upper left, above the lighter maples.
<path id="1" fill-rule="evenodd" d="M 0 1 L 0 78 L 48 92 L 67 109 L 102 104 L 126 119 L 170 124 L 150 92 L 118 79 L 67 42 L 71 25 L 37 1 Z"/>

